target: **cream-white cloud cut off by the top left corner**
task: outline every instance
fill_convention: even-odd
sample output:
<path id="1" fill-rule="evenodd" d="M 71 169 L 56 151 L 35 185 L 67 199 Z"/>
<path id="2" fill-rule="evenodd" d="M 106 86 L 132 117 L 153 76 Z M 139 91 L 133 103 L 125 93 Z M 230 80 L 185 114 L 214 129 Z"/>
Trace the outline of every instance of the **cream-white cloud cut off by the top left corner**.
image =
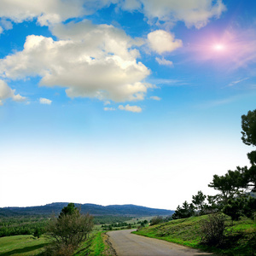
<path id="1" fill-rule="evenodd" d="M 0 17 L 15 22 L 37 18 L 41 26 L 59 23 L 73 17 L 91 15 L 117 0 L 1 0 Z"/>

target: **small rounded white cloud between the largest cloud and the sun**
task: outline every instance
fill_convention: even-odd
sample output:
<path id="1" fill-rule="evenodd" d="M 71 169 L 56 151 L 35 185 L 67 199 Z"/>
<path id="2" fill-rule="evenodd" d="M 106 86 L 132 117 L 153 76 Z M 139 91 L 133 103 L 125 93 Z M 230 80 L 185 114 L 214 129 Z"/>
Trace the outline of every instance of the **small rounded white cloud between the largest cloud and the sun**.
<path id="1" fill-rule="evenodd" d="M 159 54 L 166 51 L 173 51 L 182 47 L 183 43 L 180 39 L 175 39 L 172 33 L 164 30 L 156 30 L 148 34 L 149 47 Z"/>

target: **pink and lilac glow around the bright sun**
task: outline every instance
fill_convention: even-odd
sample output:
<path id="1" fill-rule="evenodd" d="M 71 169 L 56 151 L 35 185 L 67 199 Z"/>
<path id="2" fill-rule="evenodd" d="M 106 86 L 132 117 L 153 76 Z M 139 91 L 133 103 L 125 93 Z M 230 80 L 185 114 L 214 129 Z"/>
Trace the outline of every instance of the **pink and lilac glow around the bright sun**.
<path id="1" fill-rule="evenodd" d="M 193 61 L 211 61 L 217 67 L 236 69 L 255 63 L 256 32 L 226 30 L 222 34 L 204 32 L 189 44 L 190 58 Z"/>

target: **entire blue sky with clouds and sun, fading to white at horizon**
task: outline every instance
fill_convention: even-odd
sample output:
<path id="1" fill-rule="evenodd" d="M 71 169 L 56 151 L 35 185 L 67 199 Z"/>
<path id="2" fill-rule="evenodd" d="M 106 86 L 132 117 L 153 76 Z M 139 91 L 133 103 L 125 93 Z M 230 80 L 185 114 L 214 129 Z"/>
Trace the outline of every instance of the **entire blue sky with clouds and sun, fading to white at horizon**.
<path id="1" fill-rule="evenodd" d="M 0 207 L 175 210 L 248 166 L 254 0 L 0 0 Z"/>

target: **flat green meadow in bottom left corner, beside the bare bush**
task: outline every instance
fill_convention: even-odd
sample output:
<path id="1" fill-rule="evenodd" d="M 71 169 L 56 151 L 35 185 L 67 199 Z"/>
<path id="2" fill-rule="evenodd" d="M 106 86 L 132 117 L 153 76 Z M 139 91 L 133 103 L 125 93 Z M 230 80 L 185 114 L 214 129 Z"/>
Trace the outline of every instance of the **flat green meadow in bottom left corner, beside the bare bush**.
<path id="1" fill-rule="evenodd" d="M 6 236 L 0 238 L 0 255 L 40 255 L 48 241 L 44 236 L 39 239 L 31 235 Z"/>

